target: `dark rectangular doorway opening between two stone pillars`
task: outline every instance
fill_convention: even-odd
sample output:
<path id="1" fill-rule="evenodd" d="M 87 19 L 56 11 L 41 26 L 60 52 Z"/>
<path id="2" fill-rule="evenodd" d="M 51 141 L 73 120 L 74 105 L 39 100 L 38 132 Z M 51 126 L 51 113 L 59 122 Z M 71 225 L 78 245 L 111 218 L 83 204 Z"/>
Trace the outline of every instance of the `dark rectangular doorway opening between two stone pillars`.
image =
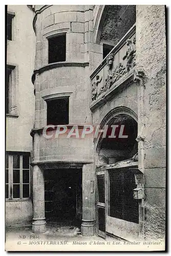
<path id="1" fill-rule="evenodd" d="M 45 217 L 56 221 L 82 219 L 82 170 L 45 170 Z"/>

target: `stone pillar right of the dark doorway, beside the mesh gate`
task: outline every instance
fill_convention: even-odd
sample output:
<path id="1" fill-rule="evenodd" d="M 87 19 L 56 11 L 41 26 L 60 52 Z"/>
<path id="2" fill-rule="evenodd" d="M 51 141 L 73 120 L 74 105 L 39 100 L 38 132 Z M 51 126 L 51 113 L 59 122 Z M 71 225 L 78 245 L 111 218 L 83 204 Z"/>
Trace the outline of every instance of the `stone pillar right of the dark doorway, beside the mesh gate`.
<path id="1" fill-rule="evenodd" d="M 82 166 L 82 236 L 94 235 L 95 220 L 95 166 L 94 163 Z"/>

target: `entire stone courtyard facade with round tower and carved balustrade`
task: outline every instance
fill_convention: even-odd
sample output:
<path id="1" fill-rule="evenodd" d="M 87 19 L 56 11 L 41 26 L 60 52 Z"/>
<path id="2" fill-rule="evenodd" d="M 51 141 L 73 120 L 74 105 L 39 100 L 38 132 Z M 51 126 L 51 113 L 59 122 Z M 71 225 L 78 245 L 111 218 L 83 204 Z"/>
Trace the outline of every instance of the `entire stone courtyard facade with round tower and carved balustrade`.
<path id="1" fill-rule="evenodd" d="M 33 232 L 44 233 L 49 219 L 64 217 L 77 219 L 83 236 L 164 238 L 165 7 L 36 5 L 10 12 L 16 40 L 8 40 L 7 64 L 21 70 L 17 118 L 7 114 L 7 226 L 33 218 Z M 23 22 L 28 28 L 18 29 Z M 79 133 L 99 125 L 102 132 L 54 138 L 57 125 L 75 125 Z M 116 136 L 103 136 L 106 125 Z"/>

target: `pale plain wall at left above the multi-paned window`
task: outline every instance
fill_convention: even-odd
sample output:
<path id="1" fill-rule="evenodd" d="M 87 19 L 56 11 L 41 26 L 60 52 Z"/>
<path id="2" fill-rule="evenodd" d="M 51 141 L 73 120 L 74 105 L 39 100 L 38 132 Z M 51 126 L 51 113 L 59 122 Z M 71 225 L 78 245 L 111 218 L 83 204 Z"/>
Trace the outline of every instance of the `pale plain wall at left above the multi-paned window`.
<path id="1" fill-rule="evenodd" d="M 7 40 L 7 64 L 16 66 L 15 102 L 18 117 L 7 117 L 6 150 L 29 152 L 32 150 L 30 131 L 34 123 L 34 88 L 31 82 L 35 56 L 34 13 L 24 5 L 8 5 L 8 11 L 15 13 L 13 38 Z"/>

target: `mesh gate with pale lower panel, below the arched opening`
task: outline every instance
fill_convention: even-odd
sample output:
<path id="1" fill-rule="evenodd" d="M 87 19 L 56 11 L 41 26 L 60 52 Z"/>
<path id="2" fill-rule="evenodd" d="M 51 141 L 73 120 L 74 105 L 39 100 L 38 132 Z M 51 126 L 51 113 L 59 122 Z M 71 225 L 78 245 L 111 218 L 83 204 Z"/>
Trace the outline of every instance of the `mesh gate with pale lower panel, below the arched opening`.
<path id="1" fill-rule="evenodd" d="M 97 169 L 96 230 L 101 237 L 108 233 L 128 240 L 138 238 L 141 200 L 133 196 L 137 185 L 131 167 L 135 164 Z"/>

